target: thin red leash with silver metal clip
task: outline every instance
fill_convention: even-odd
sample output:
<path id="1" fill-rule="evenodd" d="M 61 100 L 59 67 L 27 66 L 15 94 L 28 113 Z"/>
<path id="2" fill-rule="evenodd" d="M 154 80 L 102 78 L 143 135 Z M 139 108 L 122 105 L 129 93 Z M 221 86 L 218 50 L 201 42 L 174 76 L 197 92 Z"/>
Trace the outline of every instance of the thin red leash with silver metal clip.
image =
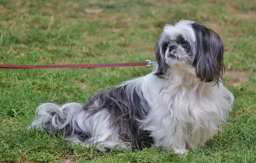
<path id="1" fill-rule="evenodd" d="M 70 65 L 0 65 L 0 68 L 96 68 L 113 66 L 151 66 L 150 60 L 127 63 L 70 64 Z"/>

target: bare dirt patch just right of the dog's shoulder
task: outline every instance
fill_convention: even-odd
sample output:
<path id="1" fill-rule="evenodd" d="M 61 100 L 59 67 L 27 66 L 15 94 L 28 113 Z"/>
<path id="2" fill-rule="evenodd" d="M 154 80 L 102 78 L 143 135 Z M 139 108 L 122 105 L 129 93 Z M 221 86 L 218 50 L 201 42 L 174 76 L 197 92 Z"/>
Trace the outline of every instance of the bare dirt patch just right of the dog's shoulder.
<path id="1" fill-rule="evenodd" d="M 227 70 L 224 74 L 224 81 L 226 84 L 237 87 L 248 82 L 248 73 L 238 72 L 234 70 Z"/>

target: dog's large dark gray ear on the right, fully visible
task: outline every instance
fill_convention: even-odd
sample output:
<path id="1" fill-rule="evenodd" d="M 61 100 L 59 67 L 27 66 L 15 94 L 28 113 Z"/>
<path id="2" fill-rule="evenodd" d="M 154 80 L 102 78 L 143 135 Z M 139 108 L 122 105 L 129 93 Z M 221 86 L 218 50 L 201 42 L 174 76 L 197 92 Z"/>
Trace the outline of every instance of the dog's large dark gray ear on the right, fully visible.
<path id="1" fill-rule="evenodd" d="M 196 54 L 193 61 L 196 76 L 201 81 L 217 83 L 225 71 L 223 42 L 217 33 L 198 22 L 192 24 L 192 27 L 196 35 Z"/>

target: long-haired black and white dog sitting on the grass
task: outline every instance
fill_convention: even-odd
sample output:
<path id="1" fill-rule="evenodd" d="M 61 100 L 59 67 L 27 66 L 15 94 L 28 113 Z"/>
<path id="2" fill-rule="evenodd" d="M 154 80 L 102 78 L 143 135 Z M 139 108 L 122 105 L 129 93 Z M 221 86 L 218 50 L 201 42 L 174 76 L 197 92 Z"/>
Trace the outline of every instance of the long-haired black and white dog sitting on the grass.
<path id="1" fill-rule="evenodd" d="M 84 105 L 46 103 L 32 127 L 98 150 L 160 146 L 186 153 L 213 136 L 234 96 L 221 82 L 223 42 L 199 22 L 167 24 L 152 73 L 94 93 Z"/>

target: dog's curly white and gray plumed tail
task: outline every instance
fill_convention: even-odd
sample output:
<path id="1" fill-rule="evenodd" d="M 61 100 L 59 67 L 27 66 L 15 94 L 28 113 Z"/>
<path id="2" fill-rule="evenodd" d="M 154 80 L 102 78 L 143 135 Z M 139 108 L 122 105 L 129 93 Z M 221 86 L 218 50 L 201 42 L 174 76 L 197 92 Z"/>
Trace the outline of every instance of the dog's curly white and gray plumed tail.
<path id="1" fill-rule="evenodd" d="M 29 128 L 45 128 L 50 132 L 56 132 L 60 130 L 68 135 L 74 134 L 74 129 L 72 127 L 72 119 L 74 115 L 82 111 L 82 105 L 76 102 L 67 103 L 61 107 L 52 103 L 45 103 L 40 105 L 36 109 L 36 120 L 31 123 Z M 69 133 L 67 135 L 67 133 Z"/>

